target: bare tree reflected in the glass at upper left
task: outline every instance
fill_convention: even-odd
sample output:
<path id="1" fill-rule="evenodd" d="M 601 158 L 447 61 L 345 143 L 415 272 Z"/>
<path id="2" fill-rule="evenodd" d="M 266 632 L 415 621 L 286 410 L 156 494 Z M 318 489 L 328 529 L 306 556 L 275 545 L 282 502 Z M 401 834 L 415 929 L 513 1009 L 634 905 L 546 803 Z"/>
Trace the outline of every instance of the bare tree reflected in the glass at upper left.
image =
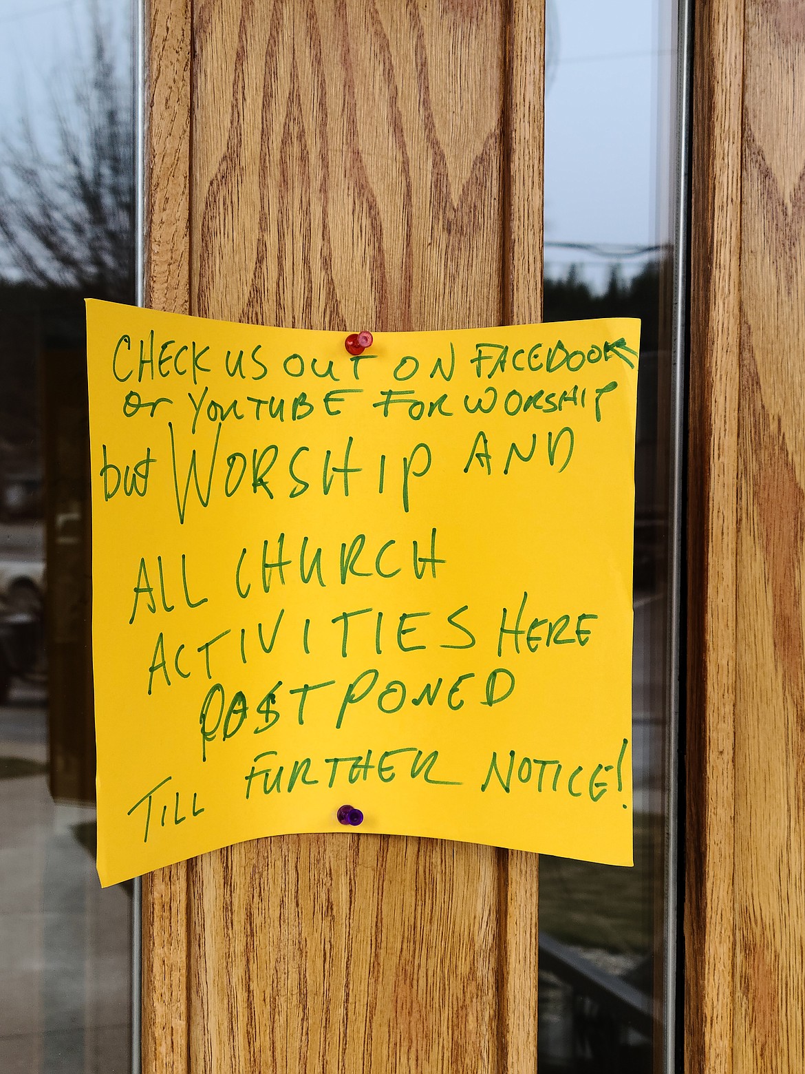
<path id="1" fill-rule="evenodd" d="M 114 35 L 96 5 L 88 15 L 88 52 L 76 53 L 63 82 L 52 79 L 49 115 L 24 110 L 16 134 L 0 141 L 0 243 L 15 282 L 127 300 L 134 175 L 129 72 L 121 73 Z"/>

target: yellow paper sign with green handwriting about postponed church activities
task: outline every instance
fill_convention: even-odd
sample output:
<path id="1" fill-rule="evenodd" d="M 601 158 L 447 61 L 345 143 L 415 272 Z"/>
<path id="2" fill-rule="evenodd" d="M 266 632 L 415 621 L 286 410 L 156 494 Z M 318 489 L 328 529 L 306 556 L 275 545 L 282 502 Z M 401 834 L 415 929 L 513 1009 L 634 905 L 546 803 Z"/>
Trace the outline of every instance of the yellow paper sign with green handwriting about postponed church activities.
<path id="1" fill-rule="evenodd" d="M 312 831 L 630 865 L 640 322 L 87 320 L 101 882 Z"/>

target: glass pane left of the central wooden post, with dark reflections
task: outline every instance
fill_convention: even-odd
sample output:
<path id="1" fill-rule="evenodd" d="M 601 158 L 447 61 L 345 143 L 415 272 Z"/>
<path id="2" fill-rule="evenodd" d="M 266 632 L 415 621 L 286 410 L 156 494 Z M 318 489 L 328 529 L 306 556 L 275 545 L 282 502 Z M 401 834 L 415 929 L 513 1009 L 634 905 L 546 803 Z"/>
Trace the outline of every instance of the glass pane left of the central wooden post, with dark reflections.
<path id="1" fill-rule="evenodd" d="M 127 3 L 0 12 L 0 1070 L 130 1062 L 131 891 L 94 869 L 84 297 L 132 302 Z"/>

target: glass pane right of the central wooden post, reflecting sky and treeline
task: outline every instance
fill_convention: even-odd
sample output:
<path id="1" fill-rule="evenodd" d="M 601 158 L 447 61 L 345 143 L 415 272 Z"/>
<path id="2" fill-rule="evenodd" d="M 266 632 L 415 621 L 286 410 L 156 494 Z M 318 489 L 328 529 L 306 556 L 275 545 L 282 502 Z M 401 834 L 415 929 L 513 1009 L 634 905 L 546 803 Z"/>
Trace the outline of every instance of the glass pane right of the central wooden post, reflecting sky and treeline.
<path id="1" fill-rule="evenodd" d="M 547 8 L 545 320 L 640 317 L 634 868 L 540 858 L 540 1074 L 663 1068 L 677 4 Z"/>

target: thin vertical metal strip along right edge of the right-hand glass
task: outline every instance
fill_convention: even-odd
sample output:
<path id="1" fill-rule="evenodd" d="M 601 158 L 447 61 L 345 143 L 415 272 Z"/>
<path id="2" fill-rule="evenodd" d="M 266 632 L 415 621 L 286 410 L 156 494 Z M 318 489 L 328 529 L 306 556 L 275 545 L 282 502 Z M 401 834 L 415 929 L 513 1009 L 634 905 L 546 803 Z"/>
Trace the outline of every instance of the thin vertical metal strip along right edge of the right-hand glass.
<path id="1" fill-rule="evenodd" d="M 676 1071 L 676 1051 L 679 1040 L 676 1026 L 677 990 L 684 981 L 679 964 L 683 944 L 678 943 L 679 884 L 679 703 L 682 697 L 682 629 L 684 611 L 683 585 L 683 519 L 684 499 L 684 445 L 687 398 L 687 291 L 688 291 L 688 195 L 689 195 L 689 137 L 690 137 L 690 63 L 692 0 L 678 0 L 677 12 L 677 156 L 676 206 L 674 226 L 673 277 L 673 338 L 671 367 L 671 444 L 669 445 L 670 471 L 670 526 L 669 526 L 669 607 L 668 607 L 668 714 L 669 749 L 665 781 L 668 786 L 668 827 L 665 846 L 665 919 L 664 926 L 664 1071 Z"/>

